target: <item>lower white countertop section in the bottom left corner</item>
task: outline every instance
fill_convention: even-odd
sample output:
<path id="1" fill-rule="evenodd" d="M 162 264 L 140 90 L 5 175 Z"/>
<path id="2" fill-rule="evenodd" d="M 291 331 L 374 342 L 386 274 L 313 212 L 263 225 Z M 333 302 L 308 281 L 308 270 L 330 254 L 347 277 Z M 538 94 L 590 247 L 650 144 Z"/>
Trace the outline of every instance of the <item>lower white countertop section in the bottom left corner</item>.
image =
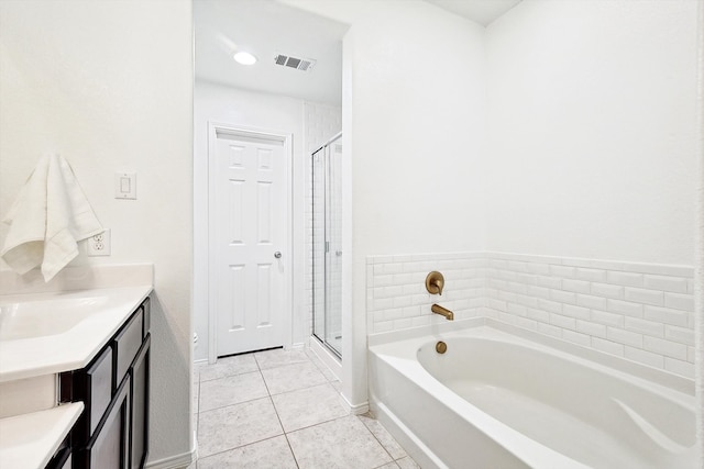
<path id="1" fill-rule="evenodd" d="M 0 467 L 43 469 L 84 410 L 82 402 L 0 418 Z"/>

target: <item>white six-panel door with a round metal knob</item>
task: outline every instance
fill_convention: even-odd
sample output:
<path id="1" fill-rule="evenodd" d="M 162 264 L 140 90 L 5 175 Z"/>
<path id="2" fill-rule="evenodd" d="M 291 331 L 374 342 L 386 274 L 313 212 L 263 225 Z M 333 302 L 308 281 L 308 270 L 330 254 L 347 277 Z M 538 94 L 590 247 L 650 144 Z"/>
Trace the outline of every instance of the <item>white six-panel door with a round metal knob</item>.
<path id="1" fill-rule="evenodd" d="M 217 356 L 284 345 L 289 267 L 284 143 L 275 136 L 216 131 L 210 283 Z"/>

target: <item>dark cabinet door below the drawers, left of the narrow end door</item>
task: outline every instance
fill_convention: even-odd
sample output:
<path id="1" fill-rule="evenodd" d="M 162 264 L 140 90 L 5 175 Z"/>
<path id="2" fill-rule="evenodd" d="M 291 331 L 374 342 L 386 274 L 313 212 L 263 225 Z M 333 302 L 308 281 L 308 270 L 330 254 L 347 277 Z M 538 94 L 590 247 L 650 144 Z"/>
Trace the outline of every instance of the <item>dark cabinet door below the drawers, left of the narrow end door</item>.
<path id="1" fill-rule="evenodd" d="M 94 469 L 129 468 L 130 378 L 127 378 L 87 448 L 89 467 Z"/>

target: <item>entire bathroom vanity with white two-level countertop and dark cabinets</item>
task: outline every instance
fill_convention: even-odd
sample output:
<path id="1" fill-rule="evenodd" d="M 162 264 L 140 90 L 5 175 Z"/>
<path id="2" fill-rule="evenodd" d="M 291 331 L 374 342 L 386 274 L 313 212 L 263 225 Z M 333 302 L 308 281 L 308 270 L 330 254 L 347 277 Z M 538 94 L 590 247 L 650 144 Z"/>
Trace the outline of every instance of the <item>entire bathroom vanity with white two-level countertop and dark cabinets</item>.
<path id="1" fill-rule="evenodd" d="M 151 293 L 0 295 L 0 467 L 144 467 Z"/>

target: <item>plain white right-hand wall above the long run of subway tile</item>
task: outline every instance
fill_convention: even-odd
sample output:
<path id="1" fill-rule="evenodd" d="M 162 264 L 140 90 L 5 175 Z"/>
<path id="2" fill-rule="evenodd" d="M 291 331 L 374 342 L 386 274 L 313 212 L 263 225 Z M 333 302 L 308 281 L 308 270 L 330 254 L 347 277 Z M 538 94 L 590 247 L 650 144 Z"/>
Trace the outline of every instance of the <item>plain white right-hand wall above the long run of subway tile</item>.
<path id="1" fill-rule="evenodd" d="M 490 250 L 692 265 L 696 3 L 525 0 L 488 26 Z"/>

